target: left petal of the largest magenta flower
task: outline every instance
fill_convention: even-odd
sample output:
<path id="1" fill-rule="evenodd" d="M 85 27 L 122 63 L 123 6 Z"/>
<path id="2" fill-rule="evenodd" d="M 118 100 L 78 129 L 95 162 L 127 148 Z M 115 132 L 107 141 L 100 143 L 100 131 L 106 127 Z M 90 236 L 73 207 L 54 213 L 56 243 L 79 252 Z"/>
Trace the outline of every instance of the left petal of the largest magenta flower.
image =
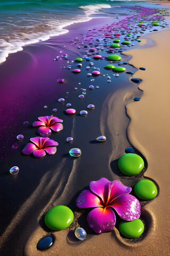
<path id="1" fill-rule="evenodd" d="M 92 194 L 90 190 L 83 190 L 77 199 L 79 208 L 99 207 L 102 206 L 101 203 L 101 199 Z"/>

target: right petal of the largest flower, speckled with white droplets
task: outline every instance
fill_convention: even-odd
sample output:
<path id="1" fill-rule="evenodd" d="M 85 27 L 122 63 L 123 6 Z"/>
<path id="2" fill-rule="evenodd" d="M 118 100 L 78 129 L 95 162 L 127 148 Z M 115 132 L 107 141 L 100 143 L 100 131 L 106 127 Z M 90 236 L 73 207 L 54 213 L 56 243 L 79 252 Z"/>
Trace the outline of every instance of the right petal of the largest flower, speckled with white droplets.
<path id="1" fill-rule="evenodd" d="M 114 208 L 123 220 L 131 221 L 140 217 L 141 205 L 132 195 L 117 197 L 110 207 Z"/>

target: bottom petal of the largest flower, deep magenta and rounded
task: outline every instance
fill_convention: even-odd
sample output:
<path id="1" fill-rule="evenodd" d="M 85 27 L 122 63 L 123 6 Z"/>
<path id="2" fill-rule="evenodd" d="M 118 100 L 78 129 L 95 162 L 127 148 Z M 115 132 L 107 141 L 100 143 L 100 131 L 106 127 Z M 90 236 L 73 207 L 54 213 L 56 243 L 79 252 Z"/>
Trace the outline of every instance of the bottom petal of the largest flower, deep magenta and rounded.
<path id="1" fill-rule="evenodd" d="M 87 221 L 89 227 L 92 228 L 95 233 L 101 234 L 113 230 L 116 223 L 116 216 L 109 207 L 97 207 L 89 212 Z"/>

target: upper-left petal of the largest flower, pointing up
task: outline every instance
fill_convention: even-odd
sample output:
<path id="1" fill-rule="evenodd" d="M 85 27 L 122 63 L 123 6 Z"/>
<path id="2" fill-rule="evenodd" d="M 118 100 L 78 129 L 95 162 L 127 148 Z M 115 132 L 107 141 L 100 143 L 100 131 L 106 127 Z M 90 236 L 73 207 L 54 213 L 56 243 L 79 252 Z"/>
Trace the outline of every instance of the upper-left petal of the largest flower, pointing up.
<path id="1" fill-rule="evenodd" d="M 107 196 L 105 196 L 106 194 L 106 187 L 108 187 L 108 185 L 110 185 L 112 182 L 109 181 L 106 178 L 101 178 L 100 180 L 96 180 L 96 181 L 91 181 L 90 182 L 90 189 L 93 193 L 95 193 L 97 196 L 99 196 L 102 201 L 105 203 Z M 108 190 L 108 189 L 107 189 Z"/>

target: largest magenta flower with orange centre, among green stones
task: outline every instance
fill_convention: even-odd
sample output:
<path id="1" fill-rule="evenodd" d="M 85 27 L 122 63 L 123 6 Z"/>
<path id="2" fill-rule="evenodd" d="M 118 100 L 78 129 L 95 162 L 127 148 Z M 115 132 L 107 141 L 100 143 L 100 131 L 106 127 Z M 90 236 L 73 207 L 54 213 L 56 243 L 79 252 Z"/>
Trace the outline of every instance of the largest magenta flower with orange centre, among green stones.
<path id="1" fill-rule="evenodd" d="M 137 198 L 128 195 L 131 187 L 124 186 L 120 181 L 109 181 L 101 178 L 90 182 L 90 190 L 83 190 L 77 199 L 79 208 L 94 208 L 89 212 L 87 221 L 95 233 L 113 230 L 117 214 L 126 221 L 139 219 L 140 203 Z"/>

